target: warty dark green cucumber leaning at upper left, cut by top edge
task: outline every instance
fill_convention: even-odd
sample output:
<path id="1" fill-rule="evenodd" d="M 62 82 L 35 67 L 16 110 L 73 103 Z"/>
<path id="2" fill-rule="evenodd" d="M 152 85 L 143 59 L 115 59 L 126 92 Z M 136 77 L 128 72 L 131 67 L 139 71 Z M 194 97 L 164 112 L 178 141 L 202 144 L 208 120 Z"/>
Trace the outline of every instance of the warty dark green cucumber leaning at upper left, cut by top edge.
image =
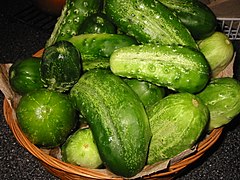
<path id="1" fill-rule="evenodd" d="M 66 4 L 45 47 L 54 44 L 56 41 L 67 40 L 77 35 L 85 19 L 97 13 L 101 3 L 101 0 L 66 0 Z"/>

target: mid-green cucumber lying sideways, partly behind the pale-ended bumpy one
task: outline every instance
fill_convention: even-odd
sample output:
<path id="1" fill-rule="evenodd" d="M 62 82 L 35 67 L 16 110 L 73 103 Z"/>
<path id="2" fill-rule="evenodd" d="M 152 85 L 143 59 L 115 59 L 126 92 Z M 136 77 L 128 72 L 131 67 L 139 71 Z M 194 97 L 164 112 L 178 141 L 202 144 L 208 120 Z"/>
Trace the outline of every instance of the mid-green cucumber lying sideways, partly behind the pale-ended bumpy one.
<path id="1" fill-rule="evenodd" d="M 137 44 L 137 41 L 123 34 L 80 34 L 68 40 L 81 53 L 83 70 L 109 68 L 109 58 L 114 50 Z"/>

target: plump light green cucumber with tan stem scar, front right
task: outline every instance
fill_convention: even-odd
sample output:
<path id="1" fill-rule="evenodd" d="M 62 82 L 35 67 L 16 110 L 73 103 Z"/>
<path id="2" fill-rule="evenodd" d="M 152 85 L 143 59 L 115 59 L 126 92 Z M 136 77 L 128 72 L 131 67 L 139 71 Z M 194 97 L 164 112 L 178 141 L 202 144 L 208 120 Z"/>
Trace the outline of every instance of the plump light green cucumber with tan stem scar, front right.
<path id="1" fill-rule="evenodd" d="M 207 106 L 190 93 L 170 94 L 147 111 L 152 139 L 148 164 L 170 159 L 191 148 L 209 121 Z"/>

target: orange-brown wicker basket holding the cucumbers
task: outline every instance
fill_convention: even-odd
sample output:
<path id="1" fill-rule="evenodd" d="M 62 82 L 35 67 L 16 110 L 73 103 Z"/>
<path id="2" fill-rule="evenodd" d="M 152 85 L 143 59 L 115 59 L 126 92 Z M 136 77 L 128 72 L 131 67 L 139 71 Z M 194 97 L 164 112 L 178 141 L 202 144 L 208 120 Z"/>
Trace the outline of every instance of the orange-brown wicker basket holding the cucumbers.
<path id="1" fill-rule="evenodd" d="M 38 51 L 34 56 L 41 57 L 43 50 Z M 232 70 L 232 63 L 226 69 Z M 229 73 L 229 71 L 227 71 Z M 10 92 L 11 93 L 11 92 Z M 76 165 L 65 163 L 55 158 L 42 149 L 32 144 L 21 131 L 14 111 L 14 100 L 5 96 L 3 110 L 7 124 L 12 130 L 17 141 L 34 155 L 42 165 L 53 175 L 61 179 L 123 179 L 122 177 L 112 174 L 107 169 L 88 169 Z M 182 159 L 168 161 L 164 169 L 159 170 L 159 164 L 154 166 L 146 166 L 143 173 L 137 176 L 143 179 L 172 179 L 188 165 L 197 161 L 205 152 L 219 139 L 223 131 L 223 127 L 214 129 L 210 134 L 206 135 L 191 154 L 187 154 Z M 162 163 L 160 163 L 161 165 Z M 150 167 L 150 170 L 149 170 Z"/>

